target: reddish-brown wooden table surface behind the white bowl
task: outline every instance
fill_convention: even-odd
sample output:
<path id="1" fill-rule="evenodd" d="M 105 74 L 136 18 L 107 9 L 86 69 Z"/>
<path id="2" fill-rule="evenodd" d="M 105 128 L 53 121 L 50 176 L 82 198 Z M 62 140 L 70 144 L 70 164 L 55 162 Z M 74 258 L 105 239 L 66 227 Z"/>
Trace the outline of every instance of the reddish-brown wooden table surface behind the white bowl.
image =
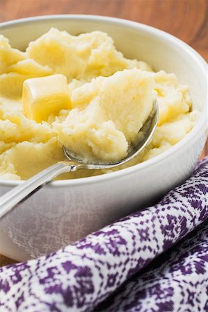
<path id="1" fill-rule="evenodd" d="M 132 19 L 162 29 L 208 62 L 207 0 L 0 0 L 0 22 L 51 14 L 92 14 Z M 208 141 L 202 156 L 208 155 Z M 8 263 L 0 257 L 0 266 Z"/>

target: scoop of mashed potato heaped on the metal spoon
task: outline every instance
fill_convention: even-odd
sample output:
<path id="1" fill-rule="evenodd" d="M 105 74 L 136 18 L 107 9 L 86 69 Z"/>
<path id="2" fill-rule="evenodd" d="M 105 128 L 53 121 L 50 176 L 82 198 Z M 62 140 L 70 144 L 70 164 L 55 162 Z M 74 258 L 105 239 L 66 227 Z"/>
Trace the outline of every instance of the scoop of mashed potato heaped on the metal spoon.
<path id="1" fill-rule="evenodd" d="M 88 162 L 124 158 L 153 108 L 154 85 L 146 71 L 136 68 L 93 78 L 71 92 L 75 108 L 53 123 L 58 140 Z"/>

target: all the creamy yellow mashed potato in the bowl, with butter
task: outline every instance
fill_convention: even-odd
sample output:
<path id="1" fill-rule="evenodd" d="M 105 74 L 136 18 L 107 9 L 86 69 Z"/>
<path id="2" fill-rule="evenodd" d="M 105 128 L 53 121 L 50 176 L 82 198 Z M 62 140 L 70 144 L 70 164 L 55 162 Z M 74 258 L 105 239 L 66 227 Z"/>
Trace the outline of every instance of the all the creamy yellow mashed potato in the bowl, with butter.
<path id="1" fill-rule="evenodd" d="M 124 58 L 100 31 L 73 36 L 51 28 L 24 52 L 0 35 L 0 179 L 27 179 L 64 159 L 62 145 L 101 162 L 125 157 L 155 98 L 153 140 L 125 166 L 155 157 L 191 131 L 200 113 L 192 110 L 188 87 L 173 73 Z"/>

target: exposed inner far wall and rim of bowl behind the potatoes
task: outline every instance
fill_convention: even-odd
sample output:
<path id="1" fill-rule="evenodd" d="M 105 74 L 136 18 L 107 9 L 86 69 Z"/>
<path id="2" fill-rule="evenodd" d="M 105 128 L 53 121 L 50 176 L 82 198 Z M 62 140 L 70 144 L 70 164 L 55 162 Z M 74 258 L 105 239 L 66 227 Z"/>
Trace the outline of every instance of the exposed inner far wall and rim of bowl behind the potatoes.
<path id="1" fill-rule="evenodd" d="M 116 48 L 127 58 L 144 60 L 158 71 L 175 73 L 180 83 L 189 85 L 193 107 L 202 110 L 207 99 L 203 60 L 189 46 L 156 28 L 122 19 L 85 15 L 36 17 L 0 25 L 0 33 L 10 44 L 24 50 L 28 42 L 56 27 L 72 35 L 90 31 L 105 31 L 114 39 Z M 205 70 L 204 70 L 205 71 Z"/>

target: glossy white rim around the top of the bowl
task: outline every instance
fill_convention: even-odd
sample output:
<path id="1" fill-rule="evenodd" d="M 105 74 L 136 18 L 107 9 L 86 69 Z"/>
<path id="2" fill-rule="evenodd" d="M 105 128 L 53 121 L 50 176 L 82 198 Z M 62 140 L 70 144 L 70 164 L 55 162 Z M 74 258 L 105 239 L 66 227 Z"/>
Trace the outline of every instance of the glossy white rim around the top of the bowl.
<path id="1" fill-rule="evenodd" d="M 207 62 L 202 58 L 202 56 L 196 52 L 189 44 L 186 44 L 179 38 L 166 33 L 165 31 L 159 30 L 153 26 L 149 26 L 146 24 L 141 24 L 137 21 L 131 21 L 128 19 L 120 19 L 117 17 L 107 17 L 101 15 L 41 15 L 35 17 L 26 17 L 22 19 L 13 19 L 11 21 L 4 21 L 0 23 L 0 31 L 1 29 L 8 28 L 10 26 L 18 26 L 21 24 L 27 24 L 32 22 L 44 21 L 49 19 L 81 19 L 85 21 L 107 21 L 110 24 L 116 24 L 118 26 L 131 26 L 132 28 L 139 29 L 144 33 L 151 33 L 156 37 L 160 37 L 171 44 L 174 44 L 180 49 L 184 49 L 191 58 L 198 63 L 199 70 L 204 72 L 206 76 L 207 72 Z M 206 103 L 207 100 L 207 103 Z M 46 184 L 46 188 L 51 187 L 73 187 L 76 185 L 84 185 L 84 184 L 94 184 L 97 182 L 105 182 L 107 180 L 114 180 L 115 178 L 123 177 L 134 173 L 135 171 L 144 171 L 147 167 L 153 166 L 155 163 L 162 162 L 164 159 L 170 157 L 171 155 L 177 153 L 178 150 L 185 148 L 187 145 L 191 144 L 191 138 L 196 138 L 200 136 L 200 131 L 204 130 L 208 127 L 207 125 L 207 109 L 208 109 L 208 98 L 203 103 L 202 112 L 196 125 L 194 128 L 177 144 L 169 148 L 168 150 L 164 151 L 163 153 L 153 157 L 152 159 L 148 159 L 145 162 L 141 162 L 139 164 L 135 164 L 133 166 L 123 168 L 119 171 L 114 171 L 112 173 L 105 173 L 103 175 L 96 175 L 92 177 L 79 177 L 76 179 L 69 179 L 69 180 L 58 180 L 53 181 L 50 184 Z M 0 185 L 3 187 L 15 187 L 21 183 L 24 183 L 24 180 L 3 180 L 0 179 Z"/>

